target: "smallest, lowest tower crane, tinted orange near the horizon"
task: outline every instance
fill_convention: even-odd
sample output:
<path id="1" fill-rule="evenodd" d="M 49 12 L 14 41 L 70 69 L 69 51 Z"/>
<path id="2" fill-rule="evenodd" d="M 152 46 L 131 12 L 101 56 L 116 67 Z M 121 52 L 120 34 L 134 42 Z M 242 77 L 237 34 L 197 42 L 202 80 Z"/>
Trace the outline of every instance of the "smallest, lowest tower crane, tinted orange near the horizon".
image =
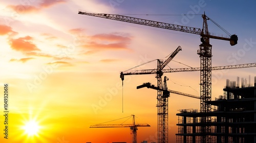
<path id="1" fill-rule="evenodd" d="M 133 132 L 133 143 L 137 143 L 137 130 L 138 127 L 150 127 L 148 124 L 135 124 L 135 115 L 127 116 L 133 117 L 133 124 L 97 124 L 91 125 L 90 128 L 122 128 L 129 127 Z M 126 118 L 126 117 L 123 117 Z"/>

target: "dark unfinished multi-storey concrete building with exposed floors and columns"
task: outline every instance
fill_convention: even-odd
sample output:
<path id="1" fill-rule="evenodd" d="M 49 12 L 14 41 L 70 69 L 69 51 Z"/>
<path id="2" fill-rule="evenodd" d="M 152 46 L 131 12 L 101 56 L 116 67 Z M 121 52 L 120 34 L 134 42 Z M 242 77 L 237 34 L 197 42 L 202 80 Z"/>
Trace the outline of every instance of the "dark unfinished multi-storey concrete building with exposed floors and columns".
<path id="1" fill-rule="evenodd" d="M 209 101 L 212 109 L 209 113 L 193 109 L 180 110 L 178 115 L 177 142 L 200 142 L 207 136 L 209 142 L 256 142 L 256 77 L 254 84 L 240 78 L 227 80 L 223 96 Z M 204 117 L 210 122 L 202 123 Z M 204 127 L 210 127 L 203 133 Z"/>

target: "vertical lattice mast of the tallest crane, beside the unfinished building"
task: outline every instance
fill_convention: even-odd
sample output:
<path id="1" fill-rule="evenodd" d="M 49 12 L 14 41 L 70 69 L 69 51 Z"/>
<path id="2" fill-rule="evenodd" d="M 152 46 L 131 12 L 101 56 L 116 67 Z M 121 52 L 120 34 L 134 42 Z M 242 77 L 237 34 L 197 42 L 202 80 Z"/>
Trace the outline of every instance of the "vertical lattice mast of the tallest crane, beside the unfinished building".
<path id="1" fill-rule="evenodd" d="M 209 113 L 211 111 L 211 106 L 208 101 L 211 101 L 211 44 L 208 32 L 206 15 L 203 17 L 203 30 L 201 34 L 201 44 L 199 45 L 199 50 L 197 54 L 200 56 L 200 112 Z M 201 117 L 201 142 L 211 142 L 209 136 L 210 126 L 207 123 L 211 122 L 210 116 Z"/>

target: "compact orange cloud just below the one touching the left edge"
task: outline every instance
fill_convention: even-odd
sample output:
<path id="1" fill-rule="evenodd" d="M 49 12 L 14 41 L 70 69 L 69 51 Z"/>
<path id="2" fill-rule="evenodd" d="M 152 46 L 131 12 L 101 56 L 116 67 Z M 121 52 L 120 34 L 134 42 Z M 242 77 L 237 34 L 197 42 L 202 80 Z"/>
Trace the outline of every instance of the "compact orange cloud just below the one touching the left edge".
<path id="1" fill-rule="evenodd" d="M 10 45 L 13 50 L 21 52 L 40 51 L 35 44 L 31 42 L 32 37 L 20 37 L 18 39 L 11 39 Z"/>

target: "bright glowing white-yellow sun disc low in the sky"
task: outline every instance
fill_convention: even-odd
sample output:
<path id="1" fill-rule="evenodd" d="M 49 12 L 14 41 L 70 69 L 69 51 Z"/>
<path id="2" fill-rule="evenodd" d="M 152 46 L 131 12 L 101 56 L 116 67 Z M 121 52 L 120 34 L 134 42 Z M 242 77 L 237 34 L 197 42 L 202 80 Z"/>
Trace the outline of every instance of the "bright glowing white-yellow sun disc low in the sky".
<path id="1" fill-rule="evenodd" d="M 29 121 L 24 126 L 23 129 L 25 130 L 25 133 L 28 134 L 28 136 L 38 135 L 40 126 L 35 121 Z"/>

